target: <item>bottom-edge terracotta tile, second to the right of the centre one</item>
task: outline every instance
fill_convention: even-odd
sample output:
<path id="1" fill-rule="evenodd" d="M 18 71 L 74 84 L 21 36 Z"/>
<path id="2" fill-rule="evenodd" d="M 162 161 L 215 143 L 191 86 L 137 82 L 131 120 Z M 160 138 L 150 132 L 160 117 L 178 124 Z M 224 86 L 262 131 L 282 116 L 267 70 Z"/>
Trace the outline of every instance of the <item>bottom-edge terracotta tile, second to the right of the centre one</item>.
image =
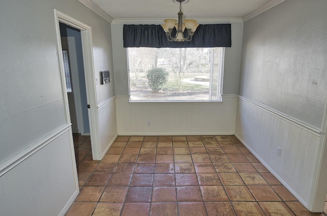
<path id="1" fill-rule="evenodd" d="M 208 216 L 236 216 L 229 202 L 205 202 Z"/>

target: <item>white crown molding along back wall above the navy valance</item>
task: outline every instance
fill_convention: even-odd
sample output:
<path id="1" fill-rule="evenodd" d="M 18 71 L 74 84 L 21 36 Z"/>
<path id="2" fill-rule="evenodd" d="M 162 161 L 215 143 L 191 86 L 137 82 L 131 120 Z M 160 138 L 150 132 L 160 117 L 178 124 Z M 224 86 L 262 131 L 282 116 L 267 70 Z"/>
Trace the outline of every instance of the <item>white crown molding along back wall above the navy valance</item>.
<path id="1" fill-rule="evenodd" d="M 140 18 L 140 19 L 122 19 L 114 18 L 111 24 L 164 24 L 167 18 Z M 199 24 L 221 24 L 243 22 L 242 17 L 225 17 L 225 18 L 194 18 Z"/>

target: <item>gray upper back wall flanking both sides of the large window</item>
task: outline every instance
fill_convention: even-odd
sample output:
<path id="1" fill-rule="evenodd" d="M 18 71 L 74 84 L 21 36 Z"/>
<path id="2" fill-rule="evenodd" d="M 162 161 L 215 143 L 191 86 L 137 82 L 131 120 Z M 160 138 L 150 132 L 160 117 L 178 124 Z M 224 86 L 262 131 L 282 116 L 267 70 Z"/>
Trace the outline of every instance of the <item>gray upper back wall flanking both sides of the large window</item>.
<path id="1" fill-rule="evenodd" d="M 111 24 L 116 95 L 128 95 L 127 51 L 123 47 L 123 24 Z M 237 94 L 241 64 L 243 23 L 231 23 L 231 47 L 225 48 L 223 94 Z"/>

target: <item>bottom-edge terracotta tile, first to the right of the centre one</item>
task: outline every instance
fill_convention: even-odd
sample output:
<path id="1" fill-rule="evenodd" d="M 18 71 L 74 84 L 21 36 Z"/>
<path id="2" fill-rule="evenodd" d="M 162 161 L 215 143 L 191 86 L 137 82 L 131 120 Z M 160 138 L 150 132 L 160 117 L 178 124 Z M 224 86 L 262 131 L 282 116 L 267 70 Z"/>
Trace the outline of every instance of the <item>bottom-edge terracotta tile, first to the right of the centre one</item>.
<path id="1" fill-rule="evenodd" d="M 179 216 L 204 216 L 206 215 L 204 203 L 202 202 L 181 202 L 178 203 Z"/>

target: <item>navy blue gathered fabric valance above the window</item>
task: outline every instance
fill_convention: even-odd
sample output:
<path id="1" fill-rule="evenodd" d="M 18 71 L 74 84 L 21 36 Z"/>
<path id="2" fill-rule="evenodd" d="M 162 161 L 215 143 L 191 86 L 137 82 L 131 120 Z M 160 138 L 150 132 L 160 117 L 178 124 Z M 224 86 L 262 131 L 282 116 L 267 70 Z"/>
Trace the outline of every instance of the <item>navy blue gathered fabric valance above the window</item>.
<path id="1" fill-rule="evenodd" d="M 173 34 L 176 33 L 173 32 Z M 124 47 L 230 47 L 231 24 L 200 24 L 194 32 L 192 41 L 189 42 L 168 41 L 161 25 L 125 24 L 123 39 Z"/>

